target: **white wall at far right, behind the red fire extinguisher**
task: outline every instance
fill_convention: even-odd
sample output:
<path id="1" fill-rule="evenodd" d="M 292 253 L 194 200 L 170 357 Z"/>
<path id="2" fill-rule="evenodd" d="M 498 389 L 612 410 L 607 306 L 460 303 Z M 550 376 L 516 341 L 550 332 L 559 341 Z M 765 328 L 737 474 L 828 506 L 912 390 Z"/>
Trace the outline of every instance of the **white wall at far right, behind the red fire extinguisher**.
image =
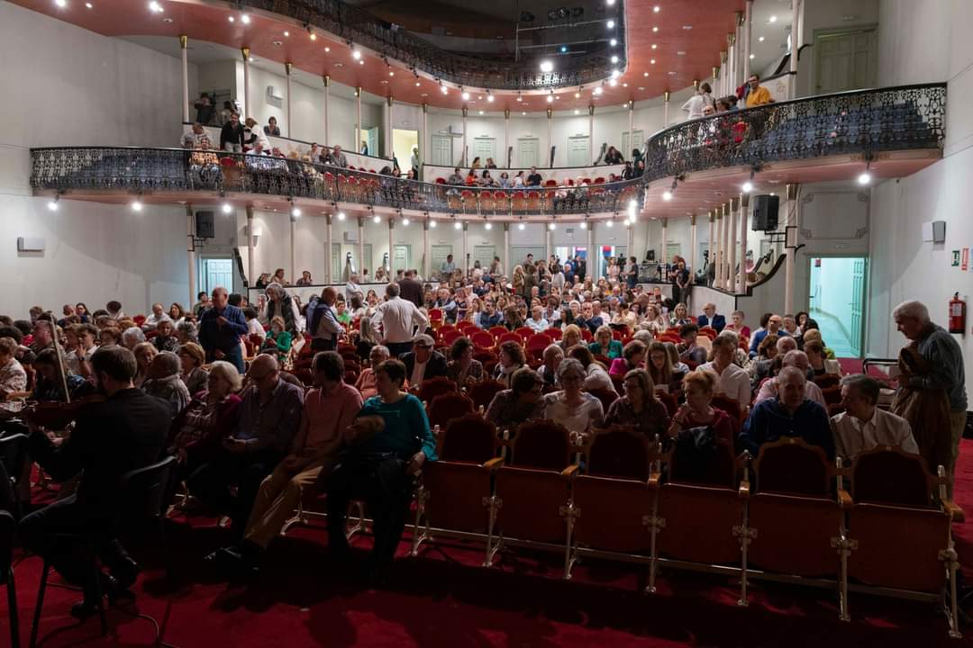
<path id="1" fill-rule="evenodd" d="M 947 304 L 958 291 L 973 297 L 973 272 L 953 267 L 952 253 L 973 244 L 969 182 L 973 171 L 973 3 L 966 0 L 910 2 L 882 0 L 880 51 L 901 61 L 883 65 L 881 83 L 948 81 L 947 141 L 943 160 L 899 181 L 872 190 L 871 294 L 867 351 L 894 358 L 906 340 L 891 322 L 891 310 L 906 299 L 929 307 L 937 324 L 946 324 Z M 894 54 L 893 54 L 894 52 Z M 944 54 L 948 52 L 948 54 Z M 911 61 L 907 63 L 906 61 Z M 945 221 L 946 243 L 921 240 L 923 222 Z M 955 336 L 965 358 L 966 391 L 973 381 L 973 335 Z"/>

